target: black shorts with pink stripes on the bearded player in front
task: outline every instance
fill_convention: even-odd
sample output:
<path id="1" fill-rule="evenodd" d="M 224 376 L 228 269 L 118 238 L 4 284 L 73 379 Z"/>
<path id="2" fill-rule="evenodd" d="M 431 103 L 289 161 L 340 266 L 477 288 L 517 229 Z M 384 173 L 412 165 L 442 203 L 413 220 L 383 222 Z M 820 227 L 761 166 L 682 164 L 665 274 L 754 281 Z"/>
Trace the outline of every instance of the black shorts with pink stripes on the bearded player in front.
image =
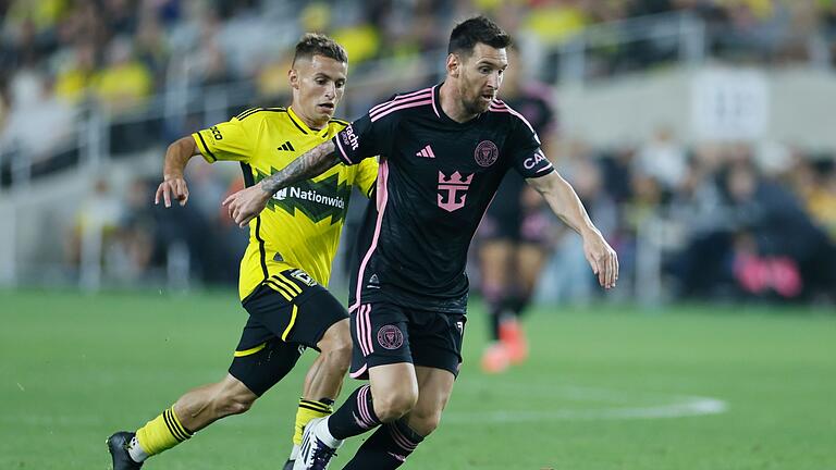
<path id="1" fill-rule="evenodd" d="M 367 379 L 370 368 L 409 362 L 451 371 L 462 366 L 464 313 L 364 304 L 352 312 L 352 372 Z"/>

